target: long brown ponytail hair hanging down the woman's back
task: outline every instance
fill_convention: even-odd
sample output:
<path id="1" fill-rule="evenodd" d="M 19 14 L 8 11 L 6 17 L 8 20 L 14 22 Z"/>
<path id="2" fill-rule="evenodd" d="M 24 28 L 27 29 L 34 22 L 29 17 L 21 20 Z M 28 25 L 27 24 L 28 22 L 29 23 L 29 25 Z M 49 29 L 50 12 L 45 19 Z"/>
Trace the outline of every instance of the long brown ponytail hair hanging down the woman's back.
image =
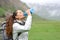
<path id="1" fill-rule="evenodd" d="M 13 15 L 11 15 L 7 20 L 6 20 L 6 34 L 8 37 L 12 37 L 12 31 L 13 31 L 13 22 L 16 19 L 15 16 L 17 15 L 16 11 L 13 12 Z"/>

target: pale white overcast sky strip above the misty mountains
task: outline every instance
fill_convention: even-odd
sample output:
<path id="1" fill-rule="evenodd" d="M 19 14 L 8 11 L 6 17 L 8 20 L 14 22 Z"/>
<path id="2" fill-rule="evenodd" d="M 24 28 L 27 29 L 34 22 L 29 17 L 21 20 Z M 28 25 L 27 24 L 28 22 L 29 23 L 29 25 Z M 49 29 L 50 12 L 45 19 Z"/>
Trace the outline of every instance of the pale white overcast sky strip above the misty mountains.
<path id="1" fill-rule="evenodd" d="M 25 3 L 40 3 L 40 4 L 45 4 L 45 3 L 59 3 L 60 0 L 21 0 Z"/>

